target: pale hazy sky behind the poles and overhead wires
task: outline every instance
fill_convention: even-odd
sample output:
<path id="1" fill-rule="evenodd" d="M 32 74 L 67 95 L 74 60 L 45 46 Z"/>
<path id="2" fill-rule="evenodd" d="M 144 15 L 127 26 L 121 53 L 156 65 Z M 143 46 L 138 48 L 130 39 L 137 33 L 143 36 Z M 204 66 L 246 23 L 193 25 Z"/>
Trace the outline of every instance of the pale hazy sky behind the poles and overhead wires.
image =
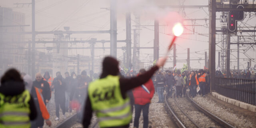
<path id="1" fill-rule="evenodd" d="M 36 0 L 36 31 L 53 31 L 64 30 L 64 26 L 70 26 L 70 30 L 109 30 L 110 29 L 110 11 L 104 8 L 110 7 L 110 0 Z M 173 8 L 158 8 L 159 5 L 178 5 L 179 1 L 185 1 L 185 5 L 208 5 L 208 0 L 118 0 L 118 40 L 125 40 L 126 26 L 125 26 L 125 12 L 127 10 L 136 10 L 141 13 L 142 25 L 154 25 L 154 19 L 160 19 L 160 25 L 166 24 L 162 19 L 166 18 L 169 12 L 179 12 L 184 16 L 182 10 Z M 1 7 L 12 8 L 14 11 L 23 12 L 26 14 L 26 24 L 31 24 L 31 5 L 19 5 L 14 3 L 30 3 L 31 0 L 0 0 Z M 208 8 L 184 9 L 186 19 L 188 18 L 209 18 Z M 255 15 L 254 15 L 255 16 Z M 168 17 L 175 20 L 175 16 Z M 219 18 L 219 14 L 217 14 Z M 255 18 L 254 18 L 255 21 Z M 208 20 L 196 21 L 195 33 L 192 31 L 192 26 L 186 26 L 184 34 L 176 40 L 177 60 L 184 60 L 187 58 L 187 48 L 190 48 L 191 59 L 204 59 L 204 52 L 208 52 Z M 216 20 L 216 26 L 219 27 L 219 21 Z M 191 21 L 184 22 L 185 25 L 192 25 Z M 255 22 L 252 23 L 255 26 Z M 134 15 L 132 14 L 132 29 L 134 29 Z M 202 25 L 202 26 L 199 26 Z M 31 26 L 26 27 L 26 31 L 31 31 Z M 146 26 L 141 28 L 140 46 L 152 47 L 154 40 L 154 26 Z M 172 39 L 171 29 L 160 26 L 160 56 L 165 54 L 166 48 Z M 204 34 L 203 36 L 200 34 Z M 52 40 L 53 35 L 37 35 L 36 38 L 44 38 L 44 40 Z M 31 40 L 27 36 L 27 40 Z M 90 38 L 97 38 L 97 40 L 110 40 L 110 34 L 72 34 L 71 38 L 76 40 L 87 40 Z M 220 38 L 216 36 L 216 38 Z M 37 39 L 38 40 L 38 39 Z M 132 31 L 133 40 L 133 31 Z M 217 40 L 217 39 L 216 39 Z M 133 42 L 133 41 L 132 41 Z M 49 44 L 47 44 L 49 45 Z M 125 43 L 118 43 L 118 47 L 125 46 Z M 43 47 L 45 45 L 37 45 Z M 70 45 L 69 45 L 70 46 Z M 72 45 L 74 46 L 74 45 Z M 88 47 L 88 44 L 77 44 L 77 47 Z M 104 44 L 109 47 L 109 43 Z M 220 46 L 220 44 L 219 44 Z M 102 47 L 101 43 L 97 43 L 96 47 Z M 237 48 L 236 48 L 237 49 Z M 220 50 L 216 46 L 216 50 Z M 47 52 L 47 50 L 42 50 Z M 218 52 L 216 51 L 216 65 L 218 63 Z M 103 55 L 109 54 L 110 50 L 97 49 L 96 58 L 102 58 Z M 173 53 L 173 51 L 172 51 Z M 69 50 L 70 55 L 84 54 L 90 55 L 90 50 Z M 234 53 L 235 55 L 237 53 Z M 123 52 L 118 49 L 118 58 L 122 59 Z M 172 54 L 170 55 L 172 56 Z M 254 56 L 254 55 L 253 55 Z M 153 61 L 153 49 L 140 50 L 140 58 L 144 62 Z M 256 55 L 255 55 L 256 57 Z M 172 60 L 170 60 L 172 61 Z M 182 68 L 186 62 L 177 63 L 178 68 Z M 152 64 L 151 62 L 148 64 Z M 241 62 L 242 64 L 242 62 Z M 234 63 L 233 65 L 237 65 Z M 246 65 L 246 64 L 245 64 Z M 203 68 L 204 60 L 190 61 L 191 68 Z M 173 67 L 172 63 L 168 63 L 166 67 Z M 232 66 L 231 66 L 232 67 Z"/>

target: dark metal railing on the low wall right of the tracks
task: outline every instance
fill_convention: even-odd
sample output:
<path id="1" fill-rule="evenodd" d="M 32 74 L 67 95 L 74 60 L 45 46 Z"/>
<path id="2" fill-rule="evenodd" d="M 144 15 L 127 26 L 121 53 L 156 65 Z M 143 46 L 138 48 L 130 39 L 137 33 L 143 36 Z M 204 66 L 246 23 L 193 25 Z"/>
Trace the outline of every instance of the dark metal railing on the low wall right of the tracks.
<path id="1" fill-rule="evenodd" d="M 256 80 L 216 77 L 214 89 L 223 96 L 256 105 Z"/>

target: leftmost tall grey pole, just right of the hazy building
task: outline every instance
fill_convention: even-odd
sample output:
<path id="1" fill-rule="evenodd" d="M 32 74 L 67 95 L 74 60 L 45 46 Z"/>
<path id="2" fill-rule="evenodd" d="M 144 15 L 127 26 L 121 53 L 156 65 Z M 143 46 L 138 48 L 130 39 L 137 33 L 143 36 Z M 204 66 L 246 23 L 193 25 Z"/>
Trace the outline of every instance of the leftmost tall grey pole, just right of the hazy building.
<path id="1" fill-rule="evenodd" d="M 35 0 L 32 0 L 32 80 L 36 77 L 36 34 L 35 34 Z M 28 67 L 29 68 L 29 67 Z"/>

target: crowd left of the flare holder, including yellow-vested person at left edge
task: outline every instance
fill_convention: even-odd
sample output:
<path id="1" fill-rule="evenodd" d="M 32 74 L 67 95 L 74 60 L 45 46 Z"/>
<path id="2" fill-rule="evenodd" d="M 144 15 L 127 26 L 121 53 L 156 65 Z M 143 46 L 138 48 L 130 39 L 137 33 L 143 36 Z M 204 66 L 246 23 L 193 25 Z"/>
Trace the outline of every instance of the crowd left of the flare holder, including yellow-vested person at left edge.
<path id="1" fill-rule="evenodd" d="M 7 70 L 1 78 L 0 86 L 0 101 L 3 101 L 0 104 L 0 113 L 4 115 L 0 117 L 0 128 L 42 128 L 44 121 L 51 126 L 48 110 L 50 103 L 55 103 L 55 120 L 60 119 L 61 109 L 64 119 L 66 112 L 76 110 L 81 121 L 81 107 L 85 100 L 86 88 L 92 80 L 98 79 L 98 75 L 92 71 L 90 76 L 86 71 L 82 71 L 78 76 L 74 72 L 71 76 L 69 72 L 64 75 L 65 78 L 61 72 L 56 72 L 56 77 L 53 78 L 48 71 L 43 76 L 38 72 L 33 81 L 32 77 L 24 72 L 19 73 L 14 68 Z M 18 109 L 17 106 L 22 107 Z M 19 112 L 16 112 L 17 110 Z M 23 119 L 22 116 L 26 114 L 29 116 Z M 10 123 L 10 117 L 15 117 L 13 120 L 16 122 Z"/>

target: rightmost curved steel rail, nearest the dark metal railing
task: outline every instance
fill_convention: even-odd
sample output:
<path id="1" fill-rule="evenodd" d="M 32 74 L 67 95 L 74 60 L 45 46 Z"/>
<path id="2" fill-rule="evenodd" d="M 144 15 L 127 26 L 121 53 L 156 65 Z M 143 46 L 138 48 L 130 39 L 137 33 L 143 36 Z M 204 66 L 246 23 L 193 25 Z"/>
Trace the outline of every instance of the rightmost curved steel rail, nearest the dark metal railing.
<path id="1" fill-rule="evenodd" d="M 225 128 L 235 128 L 234 126 L 232 126 L 231 124 L 228 124 L 227 122 L 225 122 L 224 120 L 218 118 L 217 116 L 215 116 L 214 114 L 210 113 L 209 111 L 207 111 L 206 109 L 202 108 L 200 105 L 198 105 L 196 102 L 194 102 L 194 100 L 192 100 L 188 93 L 187 93 L 187 97 L 188 99 L 192 102 L 192 104 L 194 104 L 194 106 L 196 106 L 196 108 L 198 108 L 199 110 L 201 110 L 202 112 L 204 112 L 204 114 L 206 114 L 207 116 L 209 116 L 210 118 L 212 118 L 213 120 L 215 120 L 216 122 L 218 122 L 219 124 L 221 124 L 222 126 L 224 126 Z"/>

